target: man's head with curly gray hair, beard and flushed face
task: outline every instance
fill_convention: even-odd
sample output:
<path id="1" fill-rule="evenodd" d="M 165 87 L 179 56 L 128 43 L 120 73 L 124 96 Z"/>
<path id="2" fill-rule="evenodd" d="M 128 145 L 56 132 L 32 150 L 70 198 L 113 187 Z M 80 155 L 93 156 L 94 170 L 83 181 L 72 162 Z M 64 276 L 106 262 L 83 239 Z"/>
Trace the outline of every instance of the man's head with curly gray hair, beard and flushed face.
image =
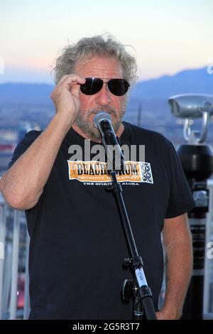
<path id="1" fill-rule="evenodd" d="M 75 113 L 75 124 L 73 129 L 80 131 L 83 136 L 98 140 L 99 132 L 94 128 L 91 122 L 92 115 L 99 111 L 106 111 L 111 113 L 114 130 L 121 134 L 122 126 L 121 120 L 126 109 L 127 90 L 129 85 L 136 81 L 136 60 L 133 56 L 126 52 L 124 45 L 116 41 L 111 36 L 94 36 L 92 38 L 82 38 L 74 45 L 68 45 L 62 50 L 62 55 L 56 60 L 55 66 L 55 82 L 57 84 L 56 90 L 53 91 L 51 97 L 60 109 L 60 93 L 65 94 L 63 87 L 67 87 L 67 108 L 70 109 L 72 103 L 75 101 L 77 94 L 80 94 L 80 109 L 72 108 L 72 113 Z M 107 68 L 110 70 L 107 72 Z M 103 71 L 104 69 L 104 71 Z M 92 71 L 98 78 L 104 79 L 104 87 L 98 95 L 82 94 L 77 83 L 82 85 L 84 77 L 91 77 Z M 94 76 L 93 75 L 93 76 Z M 107 80 L 117 79 L 114 82 Z M 87 79 L 85 85 L 87 89 L 89 85 L 97 85 L 97 82 L 89 82 Z M 126 85 L 124 95 L 114 95 L 110 92 L 110 87 L 113 85 Z M 86 86 L 85 86 L 86 88 Z M 72 92 L 70 96 L 69 92 Z M 103 95 L 103 92 L 109 92 Z M 84 92 L 85 93 L 85 92 Z M 97 99 L 101 100 L 97 100 Z M 65 97 L 62 96 L 63 104 Z M 88 108 L 89 107 L 89 108 Z"/>

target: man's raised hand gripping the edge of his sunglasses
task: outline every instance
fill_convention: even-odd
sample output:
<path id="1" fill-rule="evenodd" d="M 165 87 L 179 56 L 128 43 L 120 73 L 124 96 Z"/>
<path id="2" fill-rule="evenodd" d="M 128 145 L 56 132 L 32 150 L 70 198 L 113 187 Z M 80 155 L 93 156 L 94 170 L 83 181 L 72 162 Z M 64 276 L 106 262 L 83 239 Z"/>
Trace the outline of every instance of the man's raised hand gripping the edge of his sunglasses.
<path id="1" fill-rule="evenodd" d="M 80 75 L 63 75 L 50 94 L 51 99 L 60 114 L 70 116 L 70 122 L 75 121 L 75 117 L 80 109 L 80 85 L 84 84 L 85 78 Z"/>

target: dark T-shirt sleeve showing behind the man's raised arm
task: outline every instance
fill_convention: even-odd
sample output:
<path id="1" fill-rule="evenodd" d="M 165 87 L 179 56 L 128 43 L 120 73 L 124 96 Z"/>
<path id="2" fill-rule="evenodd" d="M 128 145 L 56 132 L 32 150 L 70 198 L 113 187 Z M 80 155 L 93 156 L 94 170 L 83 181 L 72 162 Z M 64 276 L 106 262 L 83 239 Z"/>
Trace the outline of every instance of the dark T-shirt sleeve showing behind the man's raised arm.
<path id="1" fill-rule="evenodd" d="M 13 166 L 13 163 L 16 162 L 16 160 L 28 149 L 29 146 L 35 141 L 36 138 L 40 135 L 41 131 L 28 131 L 21 141 L 19 141 L 18 145 L 16 146 L 16 149 L 13 152 L 13 156 L 11 158 L 11 161 L 9 162 L 8 169 Z"/>

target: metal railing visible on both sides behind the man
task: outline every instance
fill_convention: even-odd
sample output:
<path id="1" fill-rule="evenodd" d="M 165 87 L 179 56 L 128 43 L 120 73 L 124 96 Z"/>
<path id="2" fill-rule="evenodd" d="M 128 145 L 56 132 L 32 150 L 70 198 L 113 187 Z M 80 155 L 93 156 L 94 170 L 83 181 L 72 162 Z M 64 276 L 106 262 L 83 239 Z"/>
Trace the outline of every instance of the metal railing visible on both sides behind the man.
<path id="1" fill-rule="evenodd" d="M 208 181 L 209 213 L 207 214 L 206 242 L 213 241 L 213 180 Z M 0 193 L 0 319 L 28 319 L 28 250 L 30 237 L 23 211 L 6 205 Z M 204 268 L 204 318 L 213 317 L 213 259 L 207 257 Z M 24 277 L 23 307 L 18 305 L 18 279 Z"/>

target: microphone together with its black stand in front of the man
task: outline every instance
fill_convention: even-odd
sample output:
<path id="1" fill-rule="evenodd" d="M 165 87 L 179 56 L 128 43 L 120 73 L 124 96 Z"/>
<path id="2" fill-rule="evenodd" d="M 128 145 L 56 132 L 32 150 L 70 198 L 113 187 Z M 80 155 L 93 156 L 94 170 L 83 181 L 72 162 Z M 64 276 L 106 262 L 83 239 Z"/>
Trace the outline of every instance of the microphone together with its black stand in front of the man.
<path id="1" fill-rule="evenodd" d="M 124 225 L 126 239 L 131 252 L 130 259 L 124 259 L 124 265 L 129 266 L 133 274 L 133 280 L 126 279 L 123 284 L 123 297 L 130 300 L 133 297 L 133 316 L 136 320 L 143 319 L 143 311 L 147 320 L 156 320 L 155 308 L 153 305 L 153 297 L 151 289 L 148 287 L 146 277 L 143 271 L 143 261 L 138 254 L 136 242 L 133 237 L 129 217 L 126 212 L 126 206 L 122 195 L 121 184 L 118 183 L 116 175 L 117 170 L 124 168 L 124 155 L 121 151 L 119 138 L 116 137 L 114 129 L 111 125 L 111 117 L 109 114 L 100 112 L 94 117 L 94 126 L 99 129 L 102 137 L 102 144 L 107 155 L 107 173 L 111 176 L 112 185 L 107 190 L 112 190 L 119 206 L 121 220 Z M 114 155 L 112 148 L 116 147 Z M 109 158 L 109 161 L 108 161 Z M 118 161 L 118 160 L 119 161 Z M 118 163 L 119 162 L 119 163 Z"/>

